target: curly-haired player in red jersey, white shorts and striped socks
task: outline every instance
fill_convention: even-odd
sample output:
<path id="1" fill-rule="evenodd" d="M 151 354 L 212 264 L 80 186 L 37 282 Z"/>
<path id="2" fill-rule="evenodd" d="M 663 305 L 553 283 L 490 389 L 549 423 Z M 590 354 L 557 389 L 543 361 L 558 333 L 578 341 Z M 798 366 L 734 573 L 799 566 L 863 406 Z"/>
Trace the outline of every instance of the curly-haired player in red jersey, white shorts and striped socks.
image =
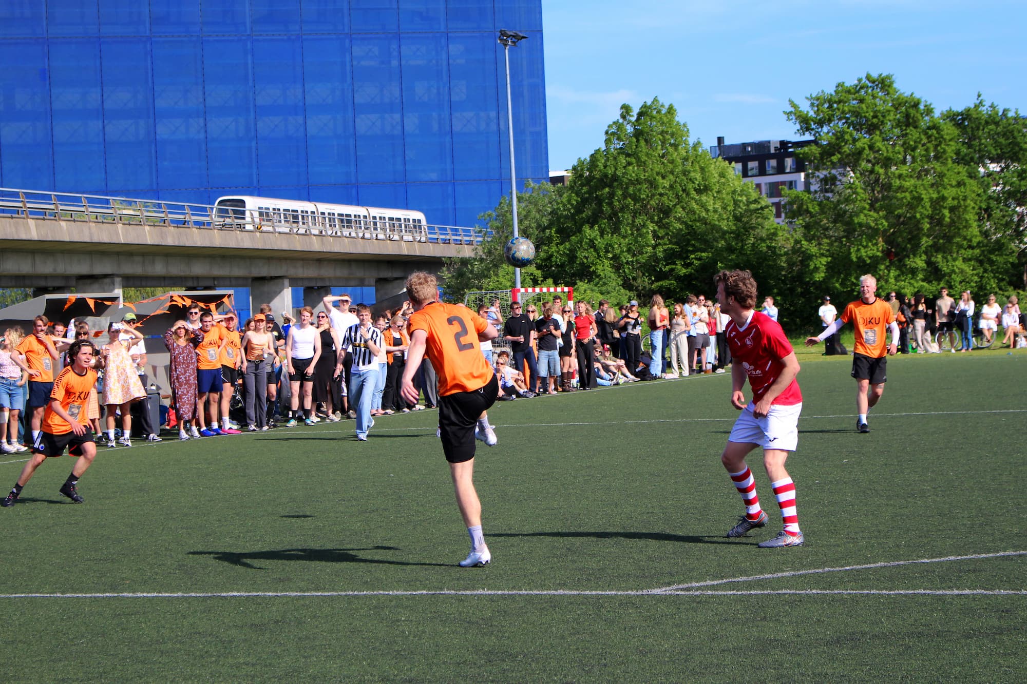
<path id="1" fill-rule="evenodd" d="M 803 543 L 795 506 L 795 484 L 785 469 L 789 452 L 799 442 L 799 414 L 802 392 L 796 376 L 799 362 L 785 332 L 775 320 L 755 311 L 756 280 L 749 271 L 721 271 L 714 277 L 720 310 L 729 316 L 724 333 L 731 350 L 731 406 L 741 411 L 734 421 L 720 460 L 741 495 L 746 515 L 738 518 L 727 536 L 743 537 L 764 527 L 767 515 L 760 507 L 756 481 L 746 465 L 753 449 L 763 449 L 763 467 L 770 478 L 781 507 L 785 529 L 773 539 L 761 541 L 760 548 L 799 546 Z M 746 403 L 741 389 L 749 380 L 752 402 Z"/>

